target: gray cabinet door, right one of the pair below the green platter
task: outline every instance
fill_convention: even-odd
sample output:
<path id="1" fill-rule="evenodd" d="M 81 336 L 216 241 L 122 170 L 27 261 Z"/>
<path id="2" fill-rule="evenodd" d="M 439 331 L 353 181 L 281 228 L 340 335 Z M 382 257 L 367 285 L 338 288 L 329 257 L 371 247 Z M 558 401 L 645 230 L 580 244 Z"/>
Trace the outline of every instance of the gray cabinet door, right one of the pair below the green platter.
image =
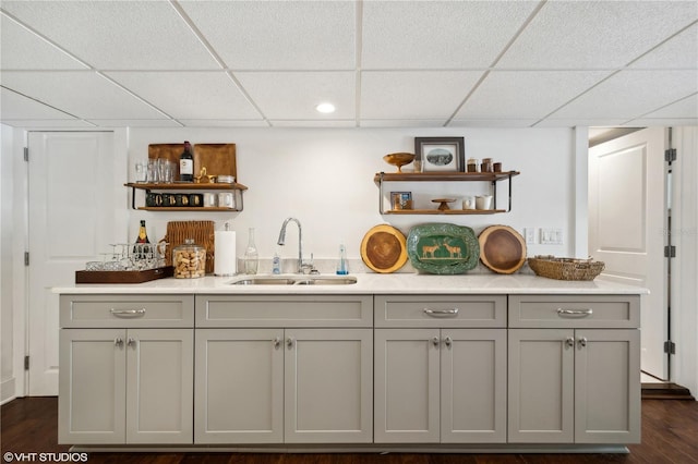
<path id="1" fill-rule="evenodd" d="M 506 442 L 506 329 L 443 329 L 441 441 Z"/>

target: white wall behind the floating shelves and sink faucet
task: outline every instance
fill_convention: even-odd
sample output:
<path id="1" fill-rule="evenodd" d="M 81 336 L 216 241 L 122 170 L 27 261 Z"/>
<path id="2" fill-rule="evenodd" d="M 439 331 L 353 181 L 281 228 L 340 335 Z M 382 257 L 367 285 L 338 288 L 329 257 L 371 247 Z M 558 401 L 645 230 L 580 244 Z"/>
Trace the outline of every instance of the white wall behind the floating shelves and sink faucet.
<path id="1" fill-rule="evenodd" d="M 394 151 L 413 151 L 416 136 L 464 136 L 466 158 L 491 157 L 502 161 L 504 170 L 518 170 L 513 181 L 513 211 L 491 216 L 384 216 L 378 213 L 376 172 L 394 172 L 383 161 Z M 270 258 L 276 249 L 279 228 L 285 218 L 298 218 L 303 227 L 306 257 L 335 258 L 345 242 L 348 257 L 360 258 L 363 235 L 373 225 L 389 222 L 405 234 L 422 222 L 453 222 L 469 225 L 478 233 L 490 224 L 556 228 L 565 234 L 565 245 L 532 245 L 529 255 L 574 254 L 574 134 L 565 129 L 501 130 L 144 130 L 129 132 L 129 175 L 133 163 L 147 158 L 148 144 L 234 143 L 239 182 L 246 185 L 244 210 L 224 212 L 152 212 L 132 211 L 129 239 L 137 232 L 139 220 L 145 219 L 151 240 L 165 235 L 171 220 L 214 220 L 217 229 L 230 221 L 238 232 L 238 256 L 246 244 L 248 228 L 256 230 L 256 246 L 262 258 Z M 407 167 L 406 169 L 409 169 Z M 133 178 L 131 178 L 133 179 Z M 125 182 L 125 180 L 124 180 Z M 417 192 L 430 188 L 423 184 L 393 184 L 392 190 Z M 485 193 L 486 184 L 444 184 L 423 192 L 423 207 L 434 207 L 431 198 L 462 196 L 462 188 Z M 506 199 L 506 182 L 500 186 L 501 202 Z M 136 193 L 137 204 L 143 194 Z M 501 204 L 502 205 L 502 204 Z M 455 206 L 455 205 L 454 205 Z M 282 258 L 298 256 L 296 229 L 289 229 Z"/>

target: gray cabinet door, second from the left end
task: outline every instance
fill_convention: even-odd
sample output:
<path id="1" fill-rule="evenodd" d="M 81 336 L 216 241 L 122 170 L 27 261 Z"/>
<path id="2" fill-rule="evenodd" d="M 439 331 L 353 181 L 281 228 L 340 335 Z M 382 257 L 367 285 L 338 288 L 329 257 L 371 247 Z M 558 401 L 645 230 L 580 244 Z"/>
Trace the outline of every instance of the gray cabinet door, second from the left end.
<path id="1" fill-rule="evenodd" d="M 193 329 L 129 329 L 127 443 L 192 443 Z"/>

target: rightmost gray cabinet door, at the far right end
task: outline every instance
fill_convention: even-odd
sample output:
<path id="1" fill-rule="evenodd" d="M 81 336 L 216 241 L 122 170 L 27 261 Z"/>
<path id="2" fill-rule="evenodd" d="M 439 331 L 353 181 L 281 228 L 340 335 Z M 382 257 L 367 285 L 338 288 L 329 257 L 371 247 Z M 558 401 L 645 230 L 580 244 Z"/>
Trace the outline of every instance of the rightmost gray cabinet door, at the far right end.
<path id="1" fill-rule="evenodd" d="M 639 443 L 639 330 L 575 335 L 575 442 Z"/>

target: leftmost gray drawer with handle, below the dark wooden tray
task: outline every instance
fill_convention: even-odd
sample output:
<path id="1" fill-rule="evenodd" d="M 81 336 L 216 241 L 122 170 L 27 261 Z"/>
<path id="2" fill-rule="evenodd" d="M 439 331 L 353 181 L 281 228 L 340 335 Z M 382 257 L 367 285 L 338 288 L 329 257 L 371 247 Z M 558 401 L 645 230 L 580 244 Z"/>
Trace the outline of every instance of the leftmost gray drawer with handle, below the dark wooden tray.
<path id="1" fill-rule="evenodd" d="M 193 295 L 60 295 L 62 328 L 194 327 Z"/>

